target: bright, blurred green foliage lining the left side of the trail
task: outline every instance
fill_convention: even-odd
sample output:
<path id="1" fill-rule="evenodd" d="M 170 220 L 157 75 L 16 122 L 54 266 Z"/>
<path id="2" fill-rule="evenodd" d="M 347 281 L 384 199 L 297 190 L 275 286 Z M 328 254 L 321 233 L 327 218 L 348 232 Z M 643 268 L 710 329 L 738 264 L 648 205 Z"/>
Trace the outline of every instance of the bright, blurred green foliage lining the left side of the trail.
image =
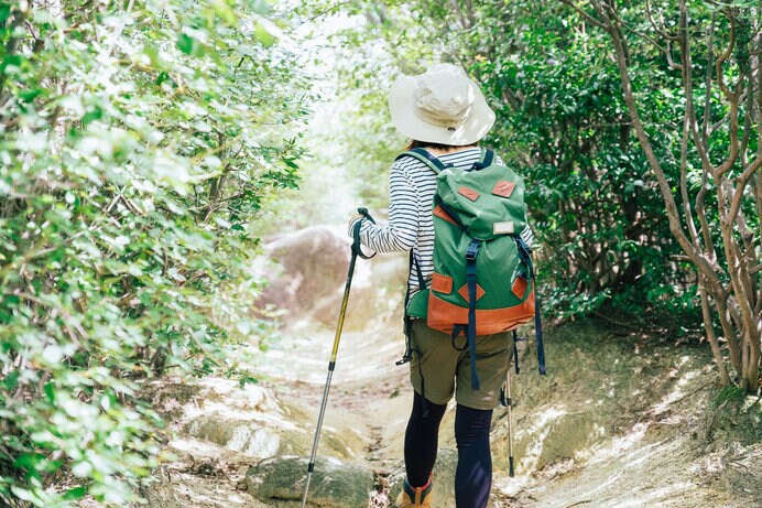
<path id="1" fill-rule="evenodd" d="M 311 101 L 272 15 L 0 3 L 0 504 L 123 506 L 159 460 L 141 382 L 236 372 L 249 223 L 296 185 Z"/>

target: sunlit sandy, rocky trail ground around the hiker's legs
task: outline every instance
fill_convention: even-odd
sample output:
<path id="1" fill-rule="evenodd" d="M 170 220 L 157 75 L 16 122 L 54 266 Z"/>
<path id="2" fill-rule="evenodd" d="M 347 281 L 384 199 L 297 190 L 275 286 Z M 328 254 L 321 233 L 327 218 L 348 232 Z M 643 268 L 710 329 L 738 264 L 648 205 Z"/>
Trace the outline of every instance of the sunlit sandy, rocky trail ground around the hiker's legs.
<path id="1" fill-rule="evenodd" d="M 549 334 L 551 344 L 557 334 Z M 378 336 L 378 331 L 348 332 L 342 338 L 317 462 L 334 457 L 372 472 L 374 493 L 368 506 L 388 507 L 402 474 L 410 393 L 406 367 L 394 366 L 400 345 L 372 338 Z M 230 381 L 204 381 L 176 421 L 178 437 L 170 447 L 182 460 L 165 472 L 152 507 L 298 506 L 304 464 L 292 478 L 291 501 L 257 498 L 244 478 L 249 467 L 266 456 L 308 455 L 331 345 L 328 328 L 282 339 L 262 355 L 263 380 L 243 390 L 248 396 Z M 759 445 L 737 444 L 734 456 L 719 445 L 697 453 L 705 446 L 698 434 L 706 432 L 698 407 L 712 379 L 700 357 L 675 360 L 665 356 L 668 349 L 652 348 L 617 366 L 620 346 L 589 346 L 601 367 L 584 359 L 590 352 L 583 345 L 557 343 L 556 354 L 548 355 L 556 367 L 551 380 L 538 380 L 532 356 L 524 355 L 514 422 L 519 475 L 508 478 L 504 472 L 505 421 L 498 409 L 492 507 L 762 506 L 754 484 L 759 478 L 747 474 L 760 464 Z M 559 353 L 567 359 L 557 357 Z M 596 375 L 601 368 L 608 371 Z M 653 391 L 643 392 L 638 383 L 643 376 L 662 379 L 651 380 Z M 585 399 L 603 389 L 612 396 Z M 198 409 L 188 411 L 188 404 Z M 237 430 L 241 426 L 249 431 Z M 445 484 L 455 463 L 451 414 L 445 418 L 440 443 L 443 471 L 437 478 Z M 728 483 L 737 486 L 728 488 Z M 351 506 L 337 502 L 325 506 Z M 436 506 L 453 506 L 451 499 Z"/>

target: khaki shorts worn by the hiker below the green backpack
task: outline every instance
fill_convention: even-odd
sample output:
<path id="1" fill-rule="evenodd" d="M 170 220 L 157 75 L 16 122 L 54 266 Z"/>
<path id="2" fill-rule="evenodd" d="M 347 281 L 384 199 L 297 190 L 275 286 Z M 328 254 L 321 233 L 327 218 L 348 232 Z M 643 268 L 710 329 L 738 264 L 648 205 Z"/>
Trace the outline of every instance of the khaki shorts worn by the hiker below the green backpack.
<path id="1" fill-rule="evenodd" d="M 410 368 L 410 380 L 417 393 L 435 404 L 446 404 L 455 393 L 455 400 L 468 408 L 494 409 L 498 406 L 500 388 L 505 382 L 513 356 L 511 332 L 477 336 L 479 390 L 471 389 L 468 347 L 457 350 L 448 334 L 429 328 L 425 320 L 413 320 L 410 339 L 417 352 L 413 354 Z M 462 334 L 455 342 L 458 347 L 467 345 Z"/>

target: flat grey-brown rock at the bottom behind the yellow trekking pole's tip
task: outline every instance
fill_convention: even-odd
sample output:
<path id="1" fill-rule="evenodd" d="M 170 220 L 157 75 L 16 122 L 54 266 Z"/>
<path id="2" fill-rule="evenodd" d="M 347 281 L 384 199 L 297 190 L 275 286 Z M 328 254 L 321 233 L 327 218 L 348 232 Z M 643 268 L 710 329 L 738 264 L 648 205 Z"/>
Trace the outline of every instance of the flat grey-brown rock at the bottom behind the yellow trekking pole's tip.
<path id="1" fill-rule="evenodd" d="M 300 506 L 308 460 L 282 456 L 261 461 L 246 474 L 247 489 L 273 506 Z M 318 457 L 309 484 L 309 506 L 364 508 L 373 490 L 373 473 L 362 466 Z"/>

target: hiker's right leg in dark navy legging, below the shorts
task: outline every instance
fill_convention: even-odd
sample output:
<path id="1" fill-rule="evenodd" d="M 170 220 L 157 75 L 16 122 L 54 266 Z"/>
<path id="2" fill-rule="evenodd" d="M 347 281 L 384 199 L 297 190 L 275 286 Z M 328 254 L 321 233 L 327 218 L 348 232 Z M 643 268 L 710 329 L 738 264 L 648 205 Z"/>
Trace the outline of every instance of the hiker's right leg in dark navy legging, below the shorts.
<path id="1" fill-rule="evenodd" d="M 458 467 L 455 472 L 455 504 L 458 508 L 485 508 L 492 487 L 490 423 L 492 410 L 458 404 L 455 411 L 455 441 Z"/>

